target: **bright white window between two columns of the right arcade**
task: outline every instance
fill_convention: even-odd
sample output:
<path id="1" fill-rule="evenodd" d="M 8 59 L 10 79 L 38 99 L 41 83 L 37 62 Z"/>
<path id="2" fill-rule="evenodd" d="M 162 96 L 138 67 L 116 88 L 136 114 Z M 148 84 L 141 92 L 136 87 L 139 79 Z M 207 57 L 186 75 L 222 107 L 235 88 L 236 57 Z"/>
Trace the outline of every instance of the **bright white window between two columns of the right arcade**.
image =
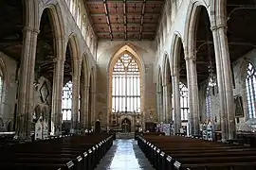
<path id="1" fill-rule="evenodd" d="M 179 92 L 180 92 L 180 113 L 181 120 L 188 120 L 189 113 L 189 91 L 188 88 L 182 82 L 179 82 Z M 174 100 L 173 100 L 174 101 Z"/>

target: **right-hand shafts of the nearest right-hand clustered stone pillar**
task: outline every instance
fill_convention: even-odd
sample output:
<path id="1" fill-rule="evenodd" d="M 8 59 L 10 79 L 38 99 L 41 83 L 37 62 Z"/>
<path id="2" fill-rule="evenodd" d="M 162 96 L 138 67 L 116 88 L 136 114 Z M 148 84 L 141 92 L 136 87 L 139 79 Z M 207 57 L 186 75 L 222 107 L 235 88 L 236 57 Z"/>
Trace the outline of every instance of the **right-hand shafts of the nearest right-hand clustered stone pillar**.
<path id="1" fill-rule="evenodd" d="M 234 99 L 233 99 L 233 86 L 231 75 L 231 64 L 229 57 L 229 43 L 227 38 L 227 26 L 218 26 L 217 32 L 219 37 L 223 84 L 225 94 L 225 109 L 228 115 L 228 138 L 233 140 L 236 136 L 235 117 L 234 117 Z"/>

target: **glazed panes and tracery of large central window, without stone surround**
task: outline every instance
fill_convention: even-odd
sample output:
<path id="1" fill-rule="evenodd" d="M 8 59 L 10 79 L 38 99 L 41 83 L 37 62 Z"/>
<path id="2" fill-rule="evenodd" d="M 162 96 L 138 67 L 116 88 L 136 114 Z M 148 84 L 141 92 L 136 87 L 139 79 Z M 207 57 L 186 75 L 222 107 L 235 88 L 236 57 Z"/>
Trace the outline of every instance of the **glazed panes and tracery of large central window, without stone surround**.
<path id="1" fill-rule="evenodd" d="M 125 53 L 112 72 L 112 112 L 140 112 L 140 71 L 136 59 Z"/>

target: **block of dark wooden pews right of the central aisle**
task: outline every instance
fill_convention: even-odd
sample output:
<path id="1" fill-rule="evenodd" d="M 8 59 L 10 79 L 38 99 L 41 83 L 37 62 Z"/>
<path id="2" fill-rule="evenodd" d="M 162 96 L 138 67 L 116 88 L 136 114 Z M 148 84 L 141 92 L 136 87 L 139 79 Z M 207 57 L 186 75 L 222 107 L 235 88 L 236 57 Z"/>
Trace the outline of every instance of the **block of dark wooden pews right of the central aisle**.
<path id="1" fill-rule="evenodd" d="M 138 145 L 155 169 L 241 170 L 256 167 L 254 148 L 180 136 L 139 137 Z"/>

